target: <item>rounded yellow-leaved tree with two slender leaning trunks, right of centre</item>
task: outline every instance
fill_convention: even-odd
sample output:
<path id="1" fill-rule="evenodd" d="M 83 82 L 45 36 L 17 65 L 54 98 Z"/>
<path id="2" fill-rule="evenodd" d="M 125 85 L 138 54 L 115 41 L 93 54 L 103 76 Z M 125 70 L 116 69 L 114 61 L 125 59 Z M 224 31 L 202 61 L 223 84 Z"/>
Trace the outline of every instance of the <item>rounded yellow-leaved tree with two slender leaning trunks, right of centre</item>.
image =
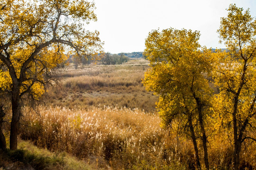
<path id="1" fill-rule="evenodd" d="M 191 30 L 153 30 L 146 39 L 144 55 L 150 67 L 143 80 L 146 90 L 159 95 L 157 108 L 164 127 L 179 120 L 192 139 L 196 164 L 201 169 L 195 129 L 200 129 L 204 162 L 209 170 L 204 117 L 208 112 L 211 90 L 205 78 L 210 72 L 210 50 L 200 51 L 200 34 Z M 199 122 L 199 123 L 198 123 Z M 199 127 L 197 125 L 200 125 Z"/>

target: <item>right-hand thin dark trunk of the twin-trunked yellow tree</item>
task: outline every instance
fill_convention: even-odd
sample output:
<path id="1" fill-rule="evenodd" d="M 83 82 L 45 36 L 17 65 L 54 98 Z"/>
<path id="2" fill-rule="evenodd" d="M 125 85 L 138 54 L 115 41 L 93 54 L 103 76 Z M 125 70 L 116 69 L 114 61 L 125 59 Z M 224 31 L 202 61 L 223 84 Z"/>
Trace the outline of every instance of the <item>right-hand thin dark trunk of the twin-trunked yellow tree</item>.
<path id="1" fill-rule="evenodd" d="M 201 127 L 201 133 L 202 133 L 202 143 L 203 143 L 203 151 L 204 151 L 204 164 L 205 168 L 207 170 L 210 170 L 209 161 L 208 161 L 208 150 L 207 150 L 207 137 L 205 134 L 205 129 L 203 125 L 203 118 L 202 118 L 202 104 L 199 100 L 199 98 L 195 98 L 198 108 L 198 117 L 199 117 L 199 124 Z"/>

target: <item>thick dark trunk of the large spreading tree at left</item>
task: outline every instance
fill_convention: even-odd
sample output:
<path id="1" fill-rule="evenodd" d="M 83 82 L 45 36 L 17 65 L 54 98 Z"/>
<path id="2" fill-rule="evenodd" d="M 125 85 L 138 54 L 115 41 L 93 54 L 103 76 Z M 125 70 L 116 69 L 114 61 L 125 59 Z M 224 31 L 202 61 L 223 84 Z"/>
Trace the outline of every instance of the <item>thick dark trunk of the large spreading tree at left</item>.
<path id="1" fill-rule="evenodd" d="M 10 150 L 16 150 L 18 144 L 18 128 L 21 112 L 19 88 L 13 88 L 12 92 L 12 119 L 10 127 Z"/>

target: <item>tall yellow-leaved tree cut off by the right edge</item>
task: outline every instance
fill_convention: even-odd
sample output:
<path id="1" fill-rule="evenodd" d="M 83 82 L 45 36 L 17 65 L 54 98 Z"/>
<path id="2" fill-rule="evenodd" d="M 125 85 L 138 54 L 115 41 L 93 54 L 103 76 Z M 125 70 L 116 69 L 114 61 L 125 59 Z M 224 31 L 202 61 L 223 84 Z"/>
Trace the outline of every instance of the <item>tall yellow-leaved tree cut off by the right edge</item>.
<path id="1" fill-rule="evenodd" d="M 213 78 L 219 86 L 215 108 L 227 127 L 232 127 L 233 164 L 238 170 L 243 142 L 256 141 L 256 20 L 249 9 L 243 12 L 231 4 L 227 10 L 218 32 L 229 52 L 215 55 Z"/>

